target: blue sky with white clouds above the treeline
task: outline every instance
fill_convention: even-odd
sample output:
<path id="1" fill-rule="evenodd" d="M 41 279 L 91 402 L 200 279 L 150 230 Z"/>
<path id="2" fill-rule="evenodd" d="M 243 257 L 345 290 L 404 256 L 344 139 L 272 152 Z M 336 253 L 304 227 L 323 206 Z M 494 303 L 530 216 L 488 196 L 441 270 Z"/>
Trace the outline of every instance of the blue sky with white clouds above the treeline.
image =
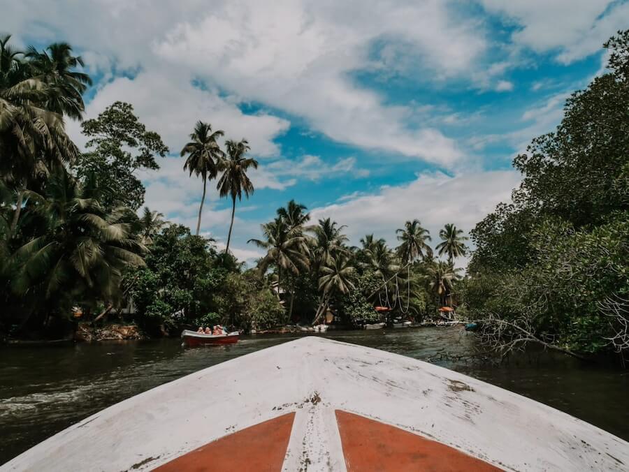
<path id="1" fill-rule="evenodd" d="M 180 149 L 194 123 L 247 138 L 259 169 L 232 249 L 294 198 L 312 219 L 395 246 L 419 219 L 438 244 L 467 233 L 521 176 L 512 159 L 561 121 L 565 98 L 604 72 L 601 45 L 629 25 L 609 0 L 21 0 L 0 32 L 66 41 L 94 86 L 85 117 L 133 105 L 171 149 L 143 172 L 146 205 L 196 228 L 201 179 Z M 68 132 L 85 143 L 80 124 Z M 231 202 L 208 186 L 201 231 L 224 247 Z M 464 264 L 461 261 L 460 264 Z"/>

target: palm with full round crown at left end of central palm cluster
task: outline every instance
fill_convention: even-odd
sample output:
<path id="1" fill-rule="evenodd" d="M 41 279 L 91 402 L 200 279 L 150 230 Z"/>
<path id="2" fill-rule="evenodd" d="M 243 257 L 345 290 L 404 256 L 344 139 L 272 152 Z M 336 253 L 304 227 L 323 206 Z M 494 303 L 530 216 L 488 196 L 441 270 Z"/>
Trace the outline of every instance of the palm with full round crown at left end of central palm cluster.
<path id="1" fill-rule="evenodd" d="M 280 296 L 282 271 L 299 274 L 300 270 L 308 267 L 307 238 L 301 228 L 291 227 L 278 216 L 269 223 L 261 225 L 264 239 L 249 239 L 261 249 L 266 249 L 264 256 L 258 263 L 260 272 L 264 273 L 273 264 L 277 268 L 277 296 Z"/>

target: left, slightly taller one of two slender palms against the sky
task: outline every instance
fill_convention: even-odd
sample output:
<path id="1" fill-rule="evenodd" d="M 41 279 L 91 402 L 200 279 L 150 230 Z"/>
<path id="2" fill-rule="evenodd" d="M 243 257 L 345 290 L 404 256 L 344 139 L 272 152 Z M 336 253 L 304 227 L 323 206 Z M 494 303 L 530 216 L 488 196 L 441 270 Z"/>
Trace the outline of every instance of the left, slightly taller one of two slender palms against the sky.
<path id="1" fill-rule="evenodd" d="M 201 214 L 203 214 L 203 202 L 205 202 L 205 189 L 208 179 L 213 179 L 217 175 L 218 161 L 224 157 L 225 153 L 216 142 L 217 138 L 224 135 L 222 130 L 212 132 L 212 125 L 197 121 L 194 131 L 190 134 L 191 141 L 181 150 L 181 156 L 188 154 L 184 170 L 189 170 L 190 175 L 194 172 L 196 177 L 201 175 L 203 179 L 203 196 L 201 205 L 198 207 L 198 221 L 196 223 L 196 235 L 201 230 Z"/>

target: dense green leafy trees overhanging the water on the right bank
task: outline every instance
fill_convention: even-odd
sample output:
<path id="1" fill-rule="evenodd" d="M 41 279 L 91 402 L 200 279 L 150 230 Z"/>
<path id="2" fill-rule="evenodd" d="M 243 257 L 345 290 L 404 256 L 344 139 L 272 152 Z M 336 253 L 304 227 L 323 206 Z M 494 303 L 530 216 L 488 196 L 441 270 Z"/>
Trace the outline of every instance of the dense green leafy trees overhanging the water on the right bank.
<path id="1" fill-rule="evenodd" d="M 579 353 L 629 348 L 629 31 L 608 72 L 565 103 L 514 166 L 523 180 L 472 231 L 466 304 L 507 351 L 530 339 Z"/>

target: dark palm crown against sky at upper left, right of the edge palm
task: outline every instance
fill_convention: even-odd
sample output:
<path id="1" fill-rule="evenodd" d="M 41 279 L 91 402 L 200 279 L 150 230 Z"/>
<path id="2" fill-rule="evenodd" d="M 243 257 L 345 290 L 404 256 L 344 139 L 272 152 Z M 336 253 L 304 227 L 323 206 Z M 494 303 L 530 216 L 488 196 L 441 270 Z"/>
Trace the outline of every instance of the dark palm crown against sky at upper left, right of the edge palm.
<path id="1" fill-rule="evenodd" d="M 29 66 L 34 69 L 34 75 L 55 91 L 48 98 L 48 110 L 81 119 L 85 111 L 82 94 L 88 85 L 92 85 L 89 75 L 75 71 L 78 66 L 85 66 L 83 59 L 72 55 L 68 43 L 53 43 L 42 52 L 31 46 L 26 57 L 30 59 Z"/>

